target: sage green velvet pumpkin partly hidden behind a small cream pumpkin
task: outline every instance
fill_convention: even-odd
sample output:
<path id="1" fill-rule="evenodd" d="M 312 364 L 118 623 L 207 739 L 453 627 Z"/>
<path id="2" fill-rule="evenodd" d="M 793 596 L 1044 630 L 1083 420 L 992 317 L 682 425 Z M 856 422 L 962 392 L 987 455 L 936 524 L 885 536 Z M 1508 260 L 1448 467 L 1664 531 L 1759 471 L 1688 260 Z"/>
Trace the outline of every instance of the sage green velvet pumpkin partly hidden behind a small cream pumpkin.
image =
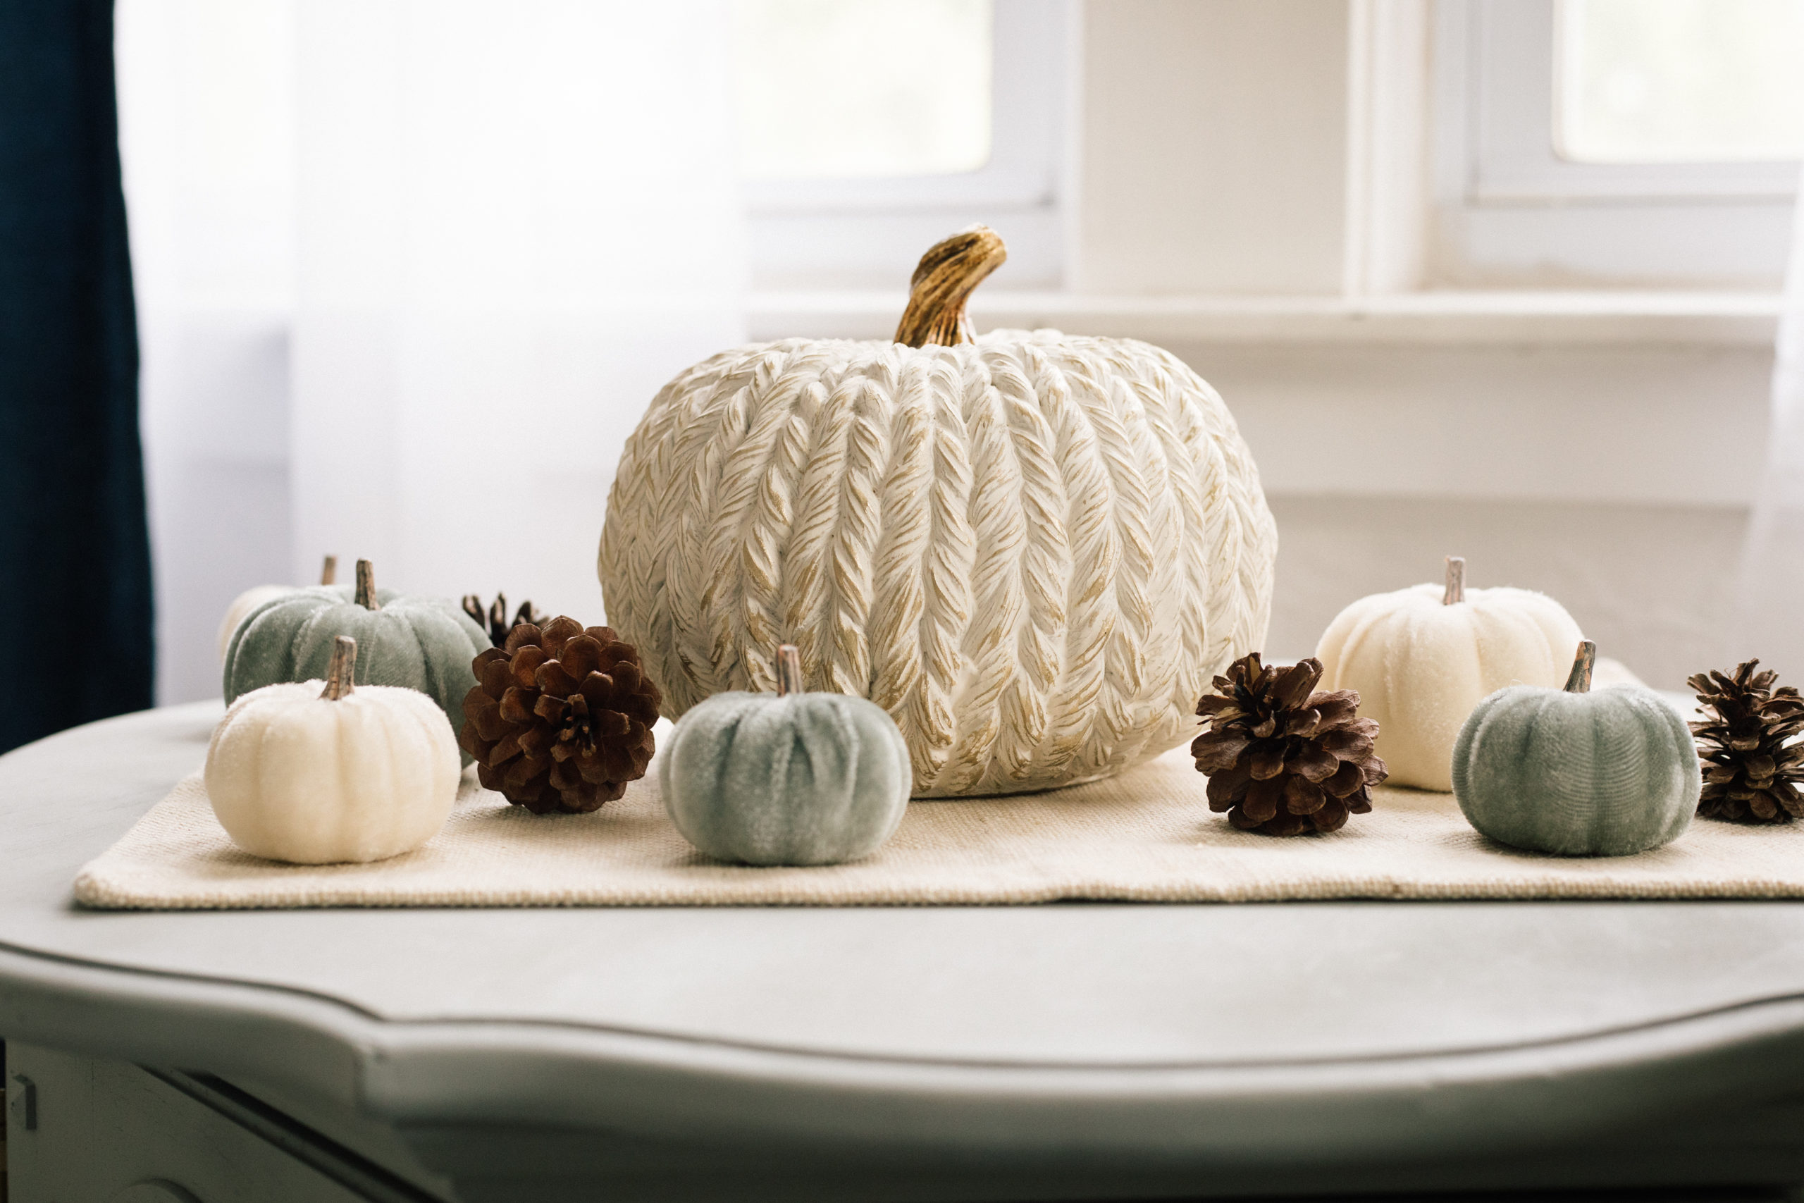
<path id="1" fill-rule="evenodd" d="M 226 649 L 227 705 L 263 685 L 323 676 L 339 635 L 361 647 L 359 685 L 419 689 L 444 711 L 456 741 L 464 694 L 476 684 L 469 666 L 489 635 L 453 601 L 377 593 L 368 559 L 357 561 L 352 597 L 336 586 L 294 590 L 238 626 Z"/>

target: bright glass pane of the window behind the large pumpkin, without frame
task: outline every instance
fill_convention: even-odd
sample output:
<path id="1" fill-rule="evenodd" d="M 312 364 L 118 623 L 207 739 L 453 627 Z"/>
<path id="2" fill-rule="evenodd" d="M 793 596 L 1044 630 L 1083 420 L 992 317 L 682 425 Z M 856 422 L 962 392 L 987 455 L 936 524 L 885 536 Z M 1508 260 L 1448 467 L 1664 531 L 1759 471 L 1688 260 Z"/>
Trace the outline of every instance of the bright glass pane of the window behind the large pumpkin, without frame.
<path id="1" fill-rule="evenodd" d="M 752 179 L 974 171 L 990 157 L 989 0 L 738 0 Z"/>

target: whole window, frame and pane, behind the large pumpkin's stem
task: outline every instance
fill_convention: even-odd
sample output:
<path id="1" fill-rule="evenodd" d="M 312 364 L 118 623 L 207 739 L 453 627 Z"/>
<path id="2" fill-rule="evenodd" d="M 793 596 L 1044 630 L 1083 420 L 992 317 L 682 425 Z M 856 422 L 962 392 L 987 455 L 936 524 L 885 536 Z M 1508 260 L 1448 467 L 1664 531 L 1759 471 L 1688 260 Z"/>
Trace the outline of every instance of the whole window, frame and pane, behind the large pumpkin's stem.
<path id="1" fill-rule="evenodd" d="M 1059 281 L 1064 0 L 738 0 L 752 283 L 902 289 L 972 222 Z"/>

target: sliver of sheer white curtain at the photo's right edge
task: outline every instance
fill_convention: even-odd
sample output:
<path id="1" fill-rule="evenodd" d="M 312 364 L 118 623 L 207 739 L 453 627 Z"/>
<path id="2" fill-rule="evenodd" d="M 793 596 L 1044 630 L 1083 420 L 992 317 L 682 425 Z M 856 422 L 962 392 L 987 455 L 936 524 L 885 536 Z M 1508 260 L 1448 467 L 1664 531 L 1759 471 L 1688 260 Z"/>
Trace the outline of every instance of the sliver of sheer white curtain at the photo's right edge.
<path id="1" fill-rule="evenodd" d="M 1782 684 L 1804 687 L 1804 175 L 1773 346 L 1764 471 L 1743 548 L 1730 647 L 1719 667 L 1750 657 L 1777 669 Z"/>

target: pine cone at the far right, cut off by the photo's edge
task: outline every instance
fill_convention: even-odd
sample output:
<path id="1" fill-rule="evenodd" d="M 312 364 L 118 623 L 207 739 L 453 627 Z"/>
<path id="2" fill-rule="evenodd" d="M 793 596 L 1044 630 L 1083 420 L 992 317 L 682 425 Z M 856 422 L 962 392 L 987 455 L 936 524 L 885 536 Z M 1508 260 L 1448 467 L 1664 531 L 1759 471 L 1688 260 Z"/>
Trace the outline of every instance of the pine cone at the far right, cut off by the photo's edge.
<path id="1" fill-rule="evenodd" d="M 1804 819 L 1804 698 L 1786 685 L 1773 689 L 1775 673 L 1755 673 L 1759 660 L 1735 667 L 1734 676 L 1698 673 L 1685 684 L 1698 691 L 1703 712 L 1692 723 L 1703 794 L 1698 813 L 1735 822 L 1791 822 Z"/>

